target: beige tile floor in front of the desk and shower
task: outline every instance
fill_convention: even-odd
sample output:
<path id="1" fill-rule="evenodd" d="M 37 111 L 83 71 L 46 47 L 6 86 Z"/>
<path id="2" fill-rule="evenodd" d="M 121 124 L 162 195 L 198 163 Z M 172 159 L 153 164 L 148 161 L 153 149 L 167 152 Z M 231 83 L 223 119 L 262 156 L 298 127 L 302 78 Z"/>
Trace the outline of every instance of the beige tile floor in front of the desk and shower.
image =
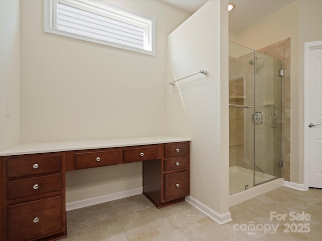
<path id="1" fill-rule="evenodd" d="M 219 225 L 187 202 L 157 209 L 136 195 L 68 211 L 61 241 L 322 240 L 322 189 L 281 187 L 229 211 L 233 221 Z"/>

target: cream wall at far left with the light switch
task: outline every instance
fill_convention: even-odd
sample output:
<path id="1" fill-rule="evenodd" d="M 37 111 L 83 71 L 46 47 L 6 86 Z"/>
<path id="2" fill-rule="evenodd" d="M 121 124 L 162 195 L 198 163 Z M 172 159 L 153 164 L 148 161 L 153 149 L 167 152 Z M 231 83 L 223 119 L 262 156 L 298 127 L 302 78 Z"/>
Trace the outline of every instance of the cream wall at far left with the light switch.
<path id="1" fill-rule="evenodd" d="M 7 100 L 11 116 L 7 117 Z M 0 151 L 20 143 L 20 1 L 0 1 Z"/>

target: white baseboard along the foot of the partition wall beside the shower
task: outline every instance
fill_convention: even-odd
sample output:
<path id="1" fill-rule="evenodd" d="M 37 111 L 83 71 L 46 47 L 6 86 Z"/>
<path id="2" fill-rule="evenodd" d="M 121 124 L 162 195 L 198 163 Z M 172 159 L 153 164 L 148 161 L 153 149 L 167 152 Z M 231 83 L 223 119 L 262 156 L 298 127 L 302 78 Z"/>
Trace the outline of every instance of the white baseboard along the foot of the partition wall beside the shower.
<path id="1" fill-rule="evenodd" d="M 204 214 L 206 214 L 208 217 L 210 217 L 215 222 L 219 223 L 220 225 L 225 224 L 227 222 L 232 221 L 230 212 L 225 212 L 223 214 L 220 214 L 216 212 L 215 210 L 211 209 L 210 207 L 206 206 L 202 202 L 198 201 L 197 199 L 193 198 L 192 196 L 186 197 L 186 202 L 194 206 L 195 208 L 202 211 Z"/>

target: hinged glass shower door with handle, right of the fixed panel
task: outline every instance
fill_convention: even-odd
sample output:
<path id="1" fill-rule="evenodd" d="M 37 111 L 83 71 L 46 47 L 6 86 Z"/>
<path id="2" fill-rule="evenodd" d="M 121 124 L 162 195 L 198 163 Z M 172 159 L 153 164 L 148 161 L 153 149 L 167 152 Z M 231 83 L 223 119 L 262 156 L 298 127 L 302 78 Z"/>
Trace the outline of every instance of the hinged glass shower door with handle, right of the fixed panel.
<path id="1" fill-rule="evenodd" d="M 281 60 L 255 52 L 254 184 L 281 176 Z"/>

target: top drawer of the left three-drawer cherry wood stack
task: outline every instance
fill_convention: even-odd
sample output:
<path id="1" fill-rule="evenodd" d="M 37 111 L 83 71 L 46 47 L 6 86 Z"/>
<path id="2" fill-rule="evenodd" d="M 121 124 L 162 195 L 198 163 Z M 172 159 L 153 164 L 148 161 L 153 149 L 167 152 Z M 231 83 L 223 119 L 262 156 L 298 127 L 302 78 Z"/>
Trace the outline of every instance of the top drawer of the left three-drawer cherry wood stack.
<path id="1" fill-rule="evenodd" d="M 8 177 L 23 177 L 51 172 L 62 169 L 62 155 L 29 155 L 25 158 L 8 159 Z"/>

